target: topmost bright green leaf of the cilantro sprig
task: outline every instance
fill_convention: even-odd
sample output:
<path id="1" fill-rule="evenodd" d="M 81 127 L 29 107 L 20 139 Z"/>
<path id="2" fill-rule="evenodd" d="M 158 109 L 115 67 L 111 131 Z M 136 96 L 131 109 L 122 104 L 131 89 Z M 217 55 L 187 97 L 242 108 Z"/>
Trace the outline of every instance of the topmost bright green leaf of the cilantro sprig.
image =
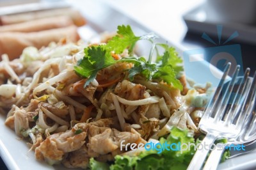
<path id="1" fill-rule="evenodd" d="M 129 54 L 132 53 L 134 46 L 138 40 L 140 40 L 140 36 L 135 36 L 132 32 L 131 26 L 118 26 L 118 35 L 114 36 L 111 40 L 108 41 L 108 47 L 111 50 L 115 51 L 116 54 L 120 54 L 124 51 L 124 49 L 129 50 Z"/>

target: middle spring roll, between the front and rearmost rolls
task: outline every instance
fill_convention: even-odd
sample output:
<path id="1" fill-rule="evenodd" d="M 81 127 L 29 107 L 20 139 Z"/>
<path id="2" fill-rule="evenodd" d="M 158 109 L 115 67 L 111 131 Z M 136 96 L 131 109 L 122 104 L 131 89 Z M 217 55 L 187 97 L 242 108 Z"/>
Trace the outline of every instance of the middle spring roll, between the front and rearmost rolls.
<path id="1" fill-rule="evenodd" d="M 73 21 L 67 16 L 57 16 L 45 19 L 36 19 L 28 22 L 20 22 L 18 24 L 10 24 L 6 26 L 0 26 L 0 32 L 35 32 L 43 31 L 46 29 L 54 29 L 59 27 L 71 26 Z"/>

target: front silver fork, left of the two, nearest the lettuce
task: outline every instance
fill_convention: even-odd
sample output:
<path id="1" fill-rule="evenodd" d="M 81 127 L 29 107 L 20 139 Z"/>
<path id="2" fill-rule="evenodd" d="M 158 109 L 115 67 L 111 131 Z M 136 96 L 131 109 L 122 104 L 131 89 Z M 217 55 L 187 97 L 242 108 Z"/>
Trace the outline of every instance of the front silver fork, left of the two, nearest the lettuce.
<path id="1" fill-rule="evenodd" d="M 245 88 L 248 83 L 248 74 L 244 75 L 243 81 L 239 83 L 238 93 L 235 93 L 235 97 L 230 97 L 233 93 L 235 82 L 237 81 L 237 75 L 239 73 L 240 66 L 236 66 L 236 70 L 232 76 L 231 81 L 227 83 L 227 88 L 223 89 L 226 77 L 230 70 L 231 63 L 227 63 L 224 69 L 223 76 L 221 77 L 218 88 L 216 89 L 211 101 L 207 105 L 204 115 L 202 116 L 198 128 L 206 134 L 202 144 L 202 150 L 197 150 L 193 156 L 187 170 L 200 169 L 204 164 L 207 153 L 211 149 L 212 144 L 216 139 L 236 137 L 241 131 L 241 127 L 245 120 L 244 114 L 239 114 L 236 118 L 239 108 L 239 104 L 244 102 L 244 98 L 248 94 L 248 89 Z M 244 83 L 243 83 L 244 82 Z M 221 97 L 221 92 L 224 94 Z M 228 107 L 228 105 L 230 105 Z M 226 120 L 223 119 L 223 115 L 228 115 Z M 236 118 L 236 122 L 231 119 Z M 209 146 L 206 148 L 206 146 Z"/>

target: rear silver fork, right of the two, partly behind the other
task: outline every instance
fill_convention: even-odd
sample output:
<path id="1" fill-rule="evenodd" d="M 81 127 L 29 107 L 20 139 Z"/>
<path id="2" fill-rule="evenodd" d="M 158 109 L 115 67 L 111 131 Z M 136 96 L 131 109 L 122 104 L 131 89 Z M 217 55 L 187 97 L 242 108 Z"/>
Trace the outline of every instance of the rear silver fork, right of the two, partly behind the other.
<path id="1" fill-rule="evenodd" d="M 250 71 L 250 70 L 249 70 Z M 246 73 L 248 73 L 248 69 L 246 70 Z M 256 133 L 255 131 L 255 113 L 253 113 L 253 109 L 256 109 L 255 104 L 255 98 L 256 98 L 256 72 L 253 75 L 252 79 L 252 85 L 250 86 L 250 90 L 248 91 L 248 97 L 246 98 L 246 102 L 243 104 L 243 108 L 241 109 L 241 112 L 244 112 L 244 114 L 247 113 L 246 117 L 246 123 L 243 125 L 243 130 L 237 135 L 235 139 L 228 139 L 226 144 L 223 144 L 223 146 L 230 146 L 231 144 L 248 144 L 252 141 L 255 141 L 256 139 Z M 225 150 L 225 147 L 223 147 L 222 150 L 212 150 L 211 154 L 207 158 L 207 161 L 205 163 L 204 169 L 217 169 L 218 163 L 220 162 L 221 155 L 223 151 Z M 247 151 L 247 148 L 246 148 Z"/>

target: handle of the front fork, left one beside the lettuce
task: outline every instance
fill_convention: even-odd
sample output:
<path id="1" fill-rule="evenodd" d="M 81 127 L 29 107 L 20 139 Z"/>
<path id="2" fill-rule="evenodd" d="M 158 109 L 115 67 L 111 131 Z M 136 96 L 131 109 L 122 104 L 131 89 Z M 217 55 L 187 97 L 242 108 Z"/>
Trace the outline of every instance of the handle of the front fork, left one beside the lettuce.
<path id="1" fill-rule="evenodd" d="M 202 149 L 196 150 L 196 153 L 192 158 L 187 170 L 201 169 L 202 165 L 204 164 L 204 160 L 207 157 L 207 153 L 209 152 L 209 146 L 214 143 L 215 139 L 216 135 L 210 133 L 205 135 L 204 140 L 202 141 Z M 208 148 L 206 148 L 206 146 Z"/>

